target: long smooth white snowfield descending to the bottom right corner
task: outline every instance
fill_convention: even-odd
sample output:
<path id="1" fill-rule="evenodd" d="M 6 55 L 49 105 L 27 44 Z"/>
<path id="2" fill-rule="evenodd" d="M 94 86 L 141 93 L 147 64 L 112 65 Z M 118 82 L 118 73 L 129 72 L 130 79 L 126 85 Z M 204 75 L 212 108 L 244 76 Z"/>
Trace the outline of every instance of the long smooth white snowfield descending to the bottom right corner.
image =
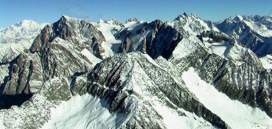
<path id="1" fill-rule="evenodd" d="M 265 112 L 238 100 L 231 100 L 214 86 L 201 80 L 193 68 L 183 72 L 182 78 L 199 101 L 232 128 L 272 128 L 272 118 Z"/>

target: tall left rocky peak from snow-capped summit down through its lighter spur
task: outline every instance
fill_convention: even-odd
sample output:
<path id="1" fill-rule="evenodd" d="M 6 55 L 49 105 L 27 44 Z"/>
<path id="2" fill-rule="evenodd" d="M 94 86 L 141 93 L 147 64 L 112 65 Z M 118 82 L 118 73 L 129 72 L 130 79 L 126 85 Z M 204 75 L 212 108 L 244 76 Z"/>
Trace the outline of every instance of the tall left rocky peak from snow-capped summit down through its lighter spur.
<path id="1" fill-rule="evenodd" d="M 102 41 L 105 41 L 104 36 L 91 23 L 63 16 L 42 30 L 30 51 L 39 53 L 46 81 L 55 76 L 70 77 L 76 72 L 88 71 L 91 62 L 84 60 L 80 52 L 87 49 L 102 59 Z"/>

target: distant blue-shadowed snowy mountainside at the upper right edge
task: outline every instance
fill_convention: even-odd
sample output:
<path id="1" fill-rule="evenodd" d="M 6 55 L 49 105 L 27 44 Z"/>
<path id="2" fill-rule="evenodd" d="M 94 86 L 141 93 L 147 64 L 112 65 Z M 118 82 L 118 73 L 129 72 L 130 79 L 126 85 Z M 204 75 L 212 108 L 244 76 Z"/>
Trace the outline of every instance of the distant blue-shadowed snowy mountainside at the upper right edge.
<path id="1" fill-rule="evenodd" d="M 272 53 L 272 17 L 237 15 L 216 24 L 216 27 L 259 57 Z"/>

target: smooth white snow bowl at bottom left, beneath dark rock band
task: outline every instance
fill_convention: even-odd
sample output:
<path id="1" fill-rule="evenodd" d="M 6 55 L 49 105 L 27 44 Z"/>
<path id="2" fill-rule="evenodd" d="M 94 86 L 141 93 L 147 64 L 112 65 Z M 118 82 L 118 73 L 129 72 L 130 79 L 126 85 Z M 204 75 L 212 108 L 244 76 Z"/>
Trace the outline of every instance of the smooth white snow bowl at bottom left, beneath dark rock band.
<path id="1" fill-rule="evenodd" d="M 90 94 L 76 95 L 51 109 L 51 120 L 42 128 L 115 128 L 116 114 L 108 111 L 108 104 Z"/>

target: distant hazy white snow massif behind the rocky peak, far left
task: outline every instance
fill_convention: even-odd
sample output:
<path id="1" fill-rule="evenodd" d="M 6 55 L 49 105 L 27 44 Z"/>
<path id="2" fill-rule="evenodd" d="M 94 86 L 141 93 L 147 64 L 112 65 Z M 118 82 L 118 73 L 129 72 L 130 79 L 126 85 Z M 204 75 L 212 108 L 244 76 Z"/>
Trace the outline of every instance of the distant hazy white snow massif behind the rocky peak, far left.
<path id="1" fill-rule="evenodd" d="M 24 20 L 0 30 L 0 63 L 10 62 L 25 49 L 29 49 L 34 38 L 48 23 L 38 24 Z"/>

